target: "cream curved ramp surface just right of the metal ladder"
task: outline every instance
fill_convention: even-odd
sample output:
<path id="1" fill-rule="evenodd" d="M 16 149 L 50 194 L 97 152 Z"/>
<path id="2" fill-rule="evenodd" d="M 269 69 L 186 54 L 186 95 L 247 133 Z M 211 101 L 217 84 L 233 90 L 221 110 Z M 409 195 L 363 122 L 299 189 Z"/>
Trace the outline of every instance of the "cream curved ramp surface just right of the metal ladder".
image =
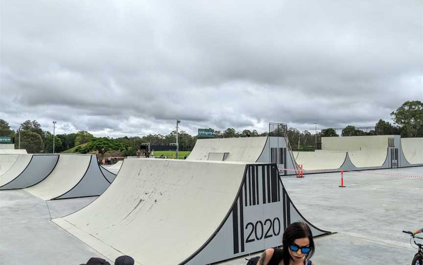
<path id="1" fill-rule="evenodd" d="M 347 158 L 347 152 L 293 152 L 298 165 L 305 170 L 338 169 Z"/>

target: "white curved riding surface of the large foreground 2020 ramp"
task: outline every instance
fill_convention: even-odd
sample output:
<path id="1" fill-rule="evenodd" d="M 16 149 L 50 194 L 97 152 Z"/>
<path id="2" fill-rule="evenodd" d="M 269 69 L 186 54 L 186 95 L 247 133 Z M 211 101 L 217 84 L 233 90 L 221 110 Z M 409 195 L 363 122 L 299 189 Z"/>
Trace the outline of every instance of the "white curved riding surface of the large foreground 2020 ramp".
<path id="1" fill-rule="evenodd" d="M 102 196 L 53 221 L 112 260 L 118 250 L 140 264 L 176 264 L 225 218 L 244 170 L 243 163 L 125 159 Z M 172 247 L 163 255 L 165 245 Z"/>

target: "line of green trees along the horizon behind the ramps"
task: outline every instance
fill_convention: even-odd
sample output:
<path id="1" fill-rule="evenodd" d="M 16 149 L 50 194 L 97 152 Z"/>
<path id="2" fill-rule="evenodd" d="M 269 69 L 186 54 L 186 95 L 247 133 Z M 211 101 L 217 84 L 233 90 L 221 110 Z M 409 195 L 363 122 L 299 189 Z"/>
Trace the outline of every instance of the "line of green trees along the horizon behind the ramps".
<path id="1" fill-rule="evenodd" d="M 364 132 L 358 128 L 349 125 L 345 127 L 341 136 L 359 136 L 359 135 L 386 135 L 400 134 L 401 137 L 423 137 L 423 103 L 421 101 L 407 101 L 397 110 L 391 112 L 394 124 L 380 119 L 374 130 Z M 21 134 L 21 148 L 26 149 L 28 153 L 45 153 L 49 154 L 53 151 L 53 135 L 51 132 L 44 131 L 36 120 L 26 120 L 19 126 Z M 257 130 L 244 130 L 236 132 L 234 128 L 228 128 L 225 131 L 215 131 L 214 138 L 230 138 L 230 137 L 256 137 L 267 136 L 268 132 L 258 133 Z M 288 128 L 287 135 L 293 150 L 312 151 L 317 142 L 320 147 L 321 137 L 339 136 L 333 128 L 327 128 L 321 132 L 313 134 L 308 131 L 300 132 L 296 128 Z M 12 129 L 7 121 L 0 119 L 0 136 L 15 137 L 15 148 L 18 148 L 19 133 Z M 185 131 L 178 132 L 178 143 L 180 151 L 190 151 L 195 145 L 197 135 L 190 135 Z M 316 141 L 317 140 L 317 141 Z M 176 142 L 176 131 L 169 134 L 148 134 L 145 136 L 134 137 L 94 137 L 87 131 L 78 131 L 69 134 L 57 134 L 54 137 L 55 152 L 61 153 L 81 144 L 87 144 L 86 147 L 79 147 L 77 151 L 87 153 L 97 151 L 104 155 L 107 151 L 118 150 L 118 155 L 128 156 L 135 155 L 142 143 L 150 143 L 150 145 L 168 146 Z"/>

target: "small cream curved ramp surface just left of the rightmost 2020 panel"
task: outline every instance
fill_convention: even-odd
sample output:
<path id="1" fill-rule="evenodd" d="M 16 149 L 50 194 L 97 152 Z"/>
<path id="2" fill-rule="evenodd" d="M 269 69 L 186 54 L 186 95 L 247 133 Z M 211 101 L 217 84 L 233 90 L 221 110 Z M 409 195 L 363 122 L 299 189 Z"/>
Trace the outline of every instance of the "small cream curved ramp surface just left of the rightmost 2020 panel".
<path id="1" fill-rule="evenodd" d="M 387 148 L 373 148 L 365 149 L 361 151 L 349 151 L 348 155 L 352 164 L 356 167 L 380 167 L 382 166 L 387 157 Z"/>

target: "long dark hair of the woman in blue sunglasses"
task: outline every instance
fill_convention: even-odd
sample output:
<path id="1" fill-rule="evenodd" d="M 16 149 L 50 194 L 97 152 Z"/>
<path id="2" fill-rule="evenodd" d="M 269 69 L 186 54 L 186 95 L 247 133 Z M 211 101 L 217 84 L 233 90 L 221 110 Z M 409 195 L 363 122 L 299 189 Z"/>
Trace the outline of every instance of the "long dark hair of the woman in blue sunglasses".
<path id="1" fill-rule="evenodd" d="M 308 246 L 311 248 L 310 252 L 305 254 L 304 264 L 306 264 L 308 260 L 313 256 L 314 241 L 310 227 L 308 227 L 308 225 L 304 222 L 294 222 L 291 223 L 288 227 L 286 227 L 285 231 L 283 231 L 283 265 L 289 265 L 289 261 L 293 259 L 291 257 L 291 254 L 289 254 L 289 245 L 294 243 L 294 241 L 299 238 L 308 238 Z"/>

